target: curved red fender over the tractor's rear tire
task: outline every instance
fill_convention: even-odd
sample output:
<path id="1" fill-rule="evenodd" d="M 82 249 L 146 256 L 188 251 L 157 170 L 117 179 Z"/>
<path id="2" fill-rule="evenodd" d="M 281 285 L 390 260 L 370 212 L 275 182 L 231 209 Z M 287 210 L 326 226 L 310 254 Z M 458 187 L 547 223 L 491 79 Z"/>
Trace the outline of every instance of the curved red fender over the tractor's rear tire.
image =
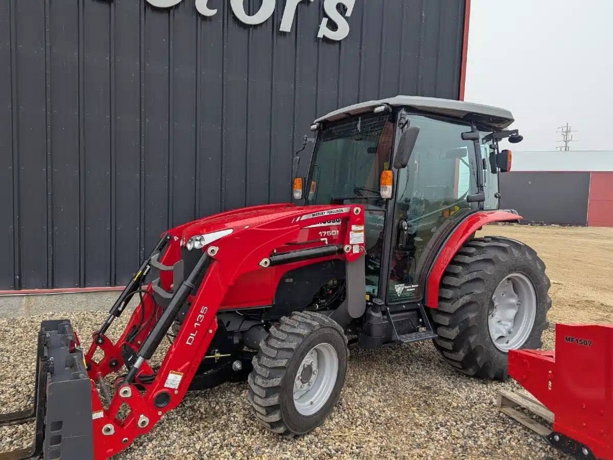
<path id="1" fill-rule="evenodd" d="M 428 285 L 426 288 L 425 304 L 431 309 L 438 309 L 438 289 L 447 265 L 455 257 L 455 253 L 460 250 L 462 245 L 470 236 L 478 231 L 485 224 L 490 222 L 519 221 L 520 215 L 508 211 L 481 211 L 466 217 L 447 238 L 443 248 L 441 248 L 436 260 L 430 269 Z"/>

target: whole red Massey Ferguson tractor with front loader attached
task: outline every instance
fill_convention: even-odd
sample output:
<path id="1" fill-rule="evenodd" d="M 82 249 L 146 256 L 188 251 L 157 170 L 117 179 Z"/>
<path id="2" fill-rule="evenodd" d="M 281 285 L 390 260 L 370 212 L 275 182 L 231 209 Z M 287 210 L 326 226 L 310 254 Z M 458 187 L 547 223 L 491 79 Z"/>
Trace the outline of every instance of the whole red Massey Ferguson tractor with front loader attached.
<path id="1" fill-rule="evenodd" d="M 475 236 L 520 218 L 498 210 L 498 174 L 511 167 L 498 143 L 522 140 L 512 121 L 495 107 L 408 96 L 316 120 L 308 171 L 294 160 L 294 204 L 164 232 L 86 351 L 68 320 L 42 323 L 35 406 L 2 420 L 36 416 L 36 440 L 12 458 L 109 458 L 186 391 L 245 378 L 262 425 L 305 434 L 338 401 L 349 342 L 432 339 L 460 372 L 506 378 L 509 350 L 541 346 L 551 304 L 535 251 Z M 135 295 L 113 343 L 105 332 Z"/>

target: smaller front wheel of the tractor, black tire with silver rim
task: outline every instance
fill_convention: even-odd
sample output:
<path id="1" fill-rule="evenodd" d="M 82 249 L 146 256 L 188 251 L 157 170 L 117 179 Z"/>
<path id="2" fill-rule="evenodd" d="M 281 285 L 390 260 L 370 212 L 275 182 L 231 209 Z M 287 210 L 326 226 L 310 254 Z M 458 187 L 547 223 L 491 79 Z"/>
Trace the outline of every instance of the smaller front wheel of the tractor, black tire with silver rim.
<path id="1" fill-rule="evenodd" d="M 343 329 L 327 316 L 281 318 L 260 342 L 248 378 L 257 420 L 287 438 L 322 424 L 340 398 L 348 356 Z"/>

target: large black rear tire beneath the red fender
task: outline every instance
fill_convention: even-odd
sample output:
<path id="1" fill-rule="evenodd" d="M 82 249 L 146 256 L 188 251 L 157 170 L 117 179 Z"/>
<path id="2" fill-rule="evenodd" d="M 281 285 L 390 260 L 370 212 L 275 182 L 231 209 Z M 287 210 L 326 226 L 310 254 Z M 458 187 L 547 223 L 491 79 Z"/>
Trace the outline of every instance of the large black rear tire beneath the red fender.
<path id="1" fill-rule="evenodd" d="M 434 339 L 436 349 L 460 372 L 506 379 L 508 353 L 495 345 L 488 321 L 495 314 L 495 291 L 512 274 L 528 280 L 535 296 L 530 306 L 534 318 L 531 328 L 528 325 L 522 334 L 523 343 L 511 342 L 512 349 L 541 348 L 541 335 L 549 326 L 550 282 L 545 264 L 532 248 L 503 237 L 476 238 L 465 243 L 447 267 L 441 280 L 438 309 L 430 310 L 430 314 L 439 335 Z M 517 317 L 520 313 L 518 310 Z"/>

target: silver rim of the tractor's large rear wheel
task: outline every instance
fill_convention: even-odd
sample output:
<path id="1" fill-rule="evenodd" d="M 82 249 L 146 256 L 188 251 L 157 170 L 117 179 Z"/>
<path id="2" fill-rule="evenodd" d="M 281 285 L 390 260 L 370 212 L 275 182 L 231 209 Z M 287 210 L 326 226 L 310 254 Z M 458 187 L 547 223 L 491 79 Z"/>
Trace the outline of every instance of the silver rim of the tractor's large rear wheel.
<path id="1" fill-rule="evenodd" d="M 498 285 L 490 302 L 489 323 L 492 342 L 501 351 L 522 347 L 536 317 L 536 293 L 526 275 L 512 273 Z"/>

